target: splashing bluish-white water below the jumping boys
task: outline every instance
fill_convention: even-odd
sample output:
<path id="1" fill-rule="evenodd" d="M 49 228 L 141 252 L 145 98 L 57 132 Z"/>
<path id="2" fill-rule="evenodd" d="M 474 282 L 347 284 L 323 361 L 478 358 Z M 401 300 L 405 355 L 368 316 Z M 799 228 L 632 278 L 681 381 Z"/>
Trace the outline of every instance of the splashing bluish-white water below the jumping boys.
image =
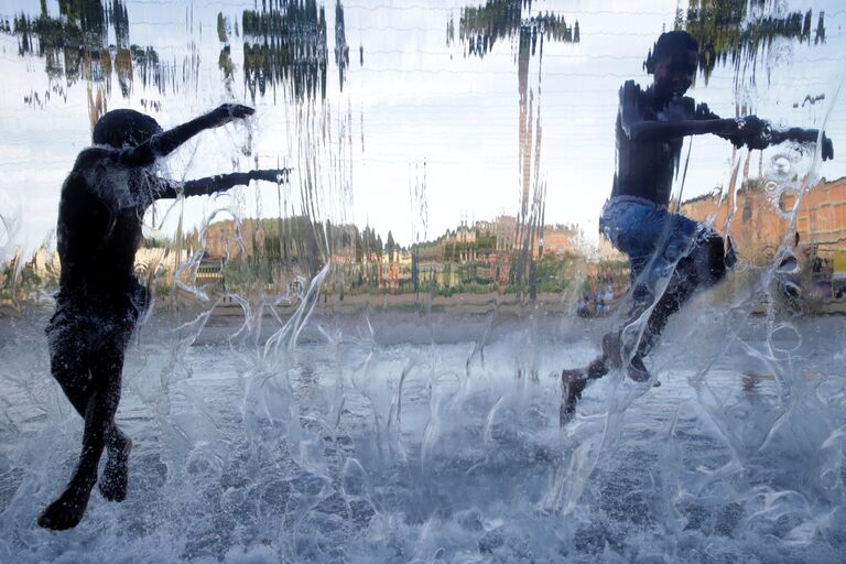
<path id="1" fill-rule="evenodd" d="M 485 333 L 478 319 L 433 319 L 435 334 L 465 333 L 433 347 L 402 328 L 402 315 L 376 316 L 372 326 L 318 316 L 292 347 L 308 304 L 259 359 L 198 332 L 207 318 L 148 327 L 130 354 L 121 408 L 137 445 L 131 496 L 93 499 L 62 544 L 44 544 L 48 533 L 24 523 L 36 514 L 31 499 L 73 464 L 67 445 L 79 423 L 41 355 L 20 354 L 37 350 L 28 344 L 39 335 L 4 335 L 14 360 L 2 432 L 21 446 L 2 457 L 0 550 L 15 561 L 131 550 L 232 562 L 429 561 L 438 551 L 455 561 L 709 553 L 829 562 L 844 546 L 846 390 L 821 355 L 846 336 L 836 319 L 770 336 L 752 321 L 728 340 L 720 334 L 737 326 L 731 316 L 706 328 L 680 323 L 658 356 L 661 388 L 632 401 L 637 386 L 600 381 L 561 433 L 554 376 L 592 351 L 562 348 L 555 319 L 538 324 L 540 380 L 516 390 L 519 319 L 497 323 L 486 368 L 467 371 L 473 336 Z M 744 304 L 714 313 L 723 307 Z M 827 336 L 806 341 L 796 332 Z M 162 356 L 169 335 L 182 335 L 184 348 Z M 702 346 L 680 359 L 691 338 Z M 707 372 L 687 368 L 709 358 Z M 801 367 L 800 378 L 785 365 Z M 47 463 L 53 453 L 63 453 L 61 464 Z M 116 535 L 119 546 L 104 542 Z"/>

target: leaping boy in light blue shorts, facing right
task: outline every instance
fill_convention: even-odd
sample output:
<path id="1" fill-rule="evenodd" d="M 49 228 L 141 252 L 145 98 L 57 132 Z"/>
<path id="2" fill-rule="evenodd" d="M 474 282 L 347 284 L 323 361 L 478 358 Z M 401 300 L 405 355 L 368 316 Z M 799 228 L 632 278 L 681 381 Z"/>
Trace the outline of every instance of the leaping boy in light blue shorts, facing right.
<path id="1" fill-rule="evenodd" d="M 820 139 L 815 129 L 773 130 L 756 116 L 720 119 L 705 104 L 696 105 L 684 94 L 693 84 L 697 61 L 698 45 L 692 35 L 663 33 L 644 62 L 653 75 L 652 85 L 642 90 L 628 80 L 620 88 L 617 171 L 599 230 L 629 257 L 632 307 L 622 327 L 603 337 L 599 357 L 585 368 L 562 372 L 562 425 L 573 419 L 587 382 L 601 378 L 610 368 L 625 367 L 631 379 L 648 381 L 651 376 L 643 357 L 668 317 L 697 289 L 719 282 L 735 262 L 730 239 L 726 245 L 711 227 L 668 209 L 683 138 L 713 133 L 749 149 Z M 834 158 L 825 135 L 822 156 L 824 161 Z M 646 324 L 638 323 L 643 317 Z"/>

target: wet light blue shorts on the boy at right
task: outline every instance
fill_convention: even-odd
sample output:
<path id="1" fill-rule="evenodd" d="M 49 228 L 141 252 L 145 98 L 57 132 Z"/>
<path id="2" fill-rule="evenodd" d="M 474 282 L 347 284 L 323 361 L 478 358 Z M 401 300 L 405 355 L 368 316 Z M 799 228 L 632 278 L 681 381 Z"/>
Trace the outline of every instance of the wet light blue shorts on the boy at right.
<path id="1" fill-rule="evenodd" d="M 665 206 L 637 196 L 616 196 L 605 203 L 599 218 L 600 232 L 629 258 L 631 280 L 649 265 L 650 283 L 672 274 L 680 259 L 716 232 Z"/>

